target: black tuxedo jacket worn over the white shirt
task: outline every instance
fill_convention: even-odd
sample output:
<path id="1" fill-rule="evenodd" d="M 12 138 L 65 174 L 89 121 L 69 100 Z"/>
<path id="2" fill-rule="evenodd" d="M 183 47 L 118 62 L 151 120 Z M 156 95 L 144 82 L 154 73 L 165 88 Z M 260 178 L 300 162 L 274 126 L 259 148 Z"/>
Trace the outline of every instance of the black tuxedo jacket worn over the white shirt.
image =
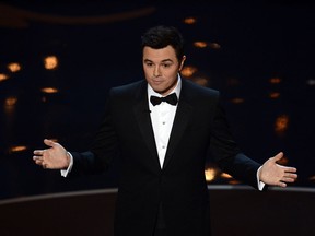
<path id="1" fill-rule="evenodd" d="M 95 142 L 89 152 L 72 153 L 72 170 L 102 172 L 120 156 L 115 235 L 151 236 L 162 205 L 168 235 L 209 236 L 209 149 L 224 172 L 257 187 L 260 165 L 234 142 L 219 92 L 185 79 L 161 168 L 143 80 L 110 90 Z"/>

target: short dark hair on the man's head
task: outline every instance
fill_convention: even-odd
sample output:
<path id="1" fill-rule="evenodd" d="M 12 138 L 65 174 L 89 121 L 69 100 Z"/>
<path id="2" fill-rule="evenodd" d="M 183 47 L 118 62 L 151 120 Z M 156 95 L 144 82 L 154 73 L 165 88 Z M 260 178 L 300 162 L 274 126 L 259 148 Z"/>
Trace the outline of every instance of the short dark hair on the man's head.
<path id="1" fill-rule="evenodd" d="M 159 25 L 149 28 L 141 37 L 142 50 L 145 46 L 160 49 L 171 45 L 176 54 L 178 61 L 184 56 L 184 38 L 179 31 L 173 26 Z"/>

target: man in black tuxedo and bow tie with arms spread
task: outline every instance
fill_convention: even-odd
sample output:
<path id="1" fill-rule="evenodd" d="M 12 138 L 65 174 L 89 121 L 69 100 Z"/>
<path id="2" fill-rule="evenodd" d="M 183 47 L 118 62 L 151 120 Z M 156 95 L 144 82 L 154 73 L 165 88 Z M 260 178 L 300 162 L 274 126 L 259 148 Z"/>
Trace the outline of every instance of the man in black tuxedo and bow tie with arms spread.
<path id="1" fill-rule="evenodd" d="M 240 151 L 220 93 L 180 78 L 183 48 L 176 28 L 150 28 L 142 36 L 145 80 L 110 90 L 91 151 L 69 153 L 50 140 L 44 140 L 50 149 L 34 151 L 36 164 L 65 176 L 103 172 L 120 156 L 115 235 L 211 235 L 209 149 L 224 172 L 260 190 L 298 177 L 295 168 L 276 163 L 282 153 L 260 165 Z"/>

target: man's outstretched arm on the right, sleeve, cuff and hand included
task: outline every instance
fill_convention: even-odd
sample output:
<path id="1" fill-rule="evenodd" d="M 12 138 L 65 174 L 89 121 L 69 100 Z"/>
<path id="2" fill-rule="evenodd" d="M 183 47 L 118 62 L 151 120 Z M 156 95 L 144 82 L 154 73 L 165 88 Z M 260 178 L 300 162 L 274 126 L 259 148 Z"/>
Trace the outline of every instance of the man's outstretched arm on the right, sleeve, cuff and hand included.
<path id="1" fill-rule="evenodd" d="M 296 168 L 277 164 L 283 157 L 280 152 L 262 165 L 247 157 L 238 150 L 229 129 L 222 106 L 217 107 L 212 144 L 219 158 L 219 166 L 240 180 L 262 190 L 265 185 L 285 187 L 298 178 Z M 257 181 L 258 180 L 258 181 Z"/>

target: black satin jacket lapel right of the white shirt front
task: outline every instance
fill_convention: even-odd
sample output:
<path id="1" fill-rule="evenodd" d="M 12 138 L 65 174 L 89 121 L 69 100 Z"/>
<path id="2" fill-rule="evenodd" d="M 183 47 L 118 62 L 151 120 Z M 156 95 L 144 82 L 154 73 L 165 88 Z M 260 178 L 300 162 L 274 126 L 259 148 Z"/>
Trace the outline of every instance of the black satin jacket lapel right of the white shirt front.
<path id="1" fill-rule="evenodd" d="M 168 141 L 167 152 L 163 163 L 163 168 L 165 168 L 166 165 L 170 163 L 170 160 L 172 158 L 177 144 L 179 143 L 182 137 L 184 135 L 184 132 L 191 117 L 191 114 L 192 114 L 192 106 L 188 103 L 188 97 L 185 95 L 185 90 L 183 86 L 180 93 L 180 99 L 178 102 L 178 107 L 176 110 Z"/>

